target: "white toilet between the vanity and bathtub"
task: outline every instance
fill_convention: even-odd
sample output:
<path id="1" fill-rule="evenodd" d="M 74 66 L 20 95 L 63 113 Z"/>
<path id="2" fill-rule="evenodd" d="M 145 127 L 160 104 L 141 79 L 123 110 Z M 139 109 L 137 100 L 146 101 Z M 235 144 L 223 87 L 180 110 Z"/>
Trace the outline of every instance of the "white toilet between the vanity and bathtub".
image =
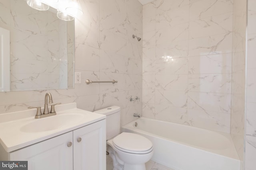
<path id="1" fill-rule="evenodd" d="M 94 112 L 106 115 L 107 151 L 113 160 L 113 170 L 146 170 L 145 163 L 153 156 L 152 142 L 135 133 L 120 133 L 120 107 Z"/>

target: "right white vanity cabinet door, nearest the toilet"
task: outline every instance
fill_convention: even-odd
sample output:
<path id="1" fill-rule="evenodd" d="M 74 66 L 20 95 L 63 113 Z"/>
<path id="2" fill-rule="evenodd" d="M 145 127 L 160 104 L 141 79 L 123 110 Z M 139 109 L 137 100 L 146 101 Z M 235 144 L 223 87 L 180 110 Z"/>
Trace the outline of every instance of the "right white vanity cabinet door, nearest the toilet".
<path id="1" fill-rule="evenodd" d="M 106 170 L 106 119 L 73 131 L 74 170 Z"/>

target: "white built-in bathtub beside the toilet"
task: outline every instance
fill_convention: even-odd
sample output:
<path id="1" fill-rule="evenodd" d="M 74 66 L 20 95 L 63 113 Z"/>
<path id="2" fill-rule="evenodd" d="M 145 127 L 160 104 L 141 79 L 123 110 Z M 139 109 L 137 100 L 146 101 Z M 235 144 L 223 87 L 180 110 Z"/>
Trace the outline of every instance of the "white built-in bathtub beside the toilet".
<path id="1" fill-rule="evenodd" d="M 151 160 L 174 170 L 240 170 L 240 160 L 228 133 L 144 117 L 123 126 L 122 132 L 150 139 L 154 147 Z"/>

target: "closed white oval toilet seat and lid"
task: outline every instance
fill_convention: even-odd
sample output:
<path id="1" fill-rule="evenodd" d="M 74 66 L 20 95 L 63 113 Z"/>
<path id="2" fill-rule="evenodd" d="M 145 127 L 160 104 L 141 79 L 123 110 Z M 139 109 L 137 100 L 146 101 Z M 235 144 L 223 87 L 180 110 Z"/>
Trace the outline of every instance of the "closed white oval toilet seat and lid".
<path id="1" fill-rule="evenodd" d="M 121 133 L 113 139 L 116 149 L 133 154 L 146 154 L 153 150 L 153 144 L 146 137 L 135 133 Z"/>

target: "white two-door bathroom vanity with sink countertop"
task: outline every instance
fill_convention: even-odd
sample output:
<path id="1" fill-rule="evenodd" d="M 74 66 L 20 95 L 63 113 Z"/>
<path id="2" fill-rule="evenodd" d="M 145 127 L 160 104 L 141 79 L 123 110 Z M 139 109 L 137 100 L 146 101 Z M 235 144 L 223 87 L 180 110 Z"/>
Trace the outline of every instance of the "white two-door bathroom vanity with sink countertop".
<path id="1" fill-rule="evenodd" d="M 106 169 L 106 116 L 76 103 L 41 119 L 35 111 L 0 115 L 0 160 L 27 160 L 28 170 Z"/>

